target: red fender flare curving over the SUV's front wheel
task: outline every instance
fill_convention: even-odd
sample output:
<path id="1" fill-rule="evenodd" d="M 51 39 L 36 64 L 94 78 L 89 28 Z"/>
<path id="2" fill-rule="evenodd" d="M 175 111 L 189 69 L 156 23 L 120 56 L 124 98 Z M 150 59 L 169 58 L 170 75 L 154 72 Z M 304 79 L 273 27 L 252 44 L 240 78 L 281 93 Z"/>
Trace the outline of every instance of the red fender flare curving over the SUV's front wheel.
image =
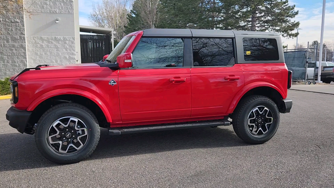
<path id="1" fill-rule="evenodd" d="M 95 102 L 101 108 L 108 122 L 112 122 L 111 115 L 108 111 L 107 106 L 97 96 L 81 89 L 63 88 L 46 92 L 43 95 L 37 97 L 34 101 L 32 101 L 28 106 L 27 111 L 33 111 L 41 102 L 57 95 L 80 95 L 82 97 L 86 97 Z"/>

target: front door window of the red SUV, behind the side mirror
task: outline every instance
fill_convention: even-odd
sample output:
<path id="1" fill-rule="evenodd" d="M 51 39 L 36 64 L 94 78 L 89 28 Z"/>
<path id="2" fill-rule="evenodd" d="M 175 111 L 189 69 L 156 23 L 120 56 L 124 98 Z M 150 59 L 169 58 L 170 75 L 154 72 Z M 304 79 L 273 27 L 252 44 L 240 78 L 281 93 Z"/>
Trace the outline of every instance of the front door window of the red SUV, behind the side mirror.
<path id="1" fill-rule="evenodd" d="M 132 53 L 133 68 L 182 67 L 183 39 L 142 38 Z"/>

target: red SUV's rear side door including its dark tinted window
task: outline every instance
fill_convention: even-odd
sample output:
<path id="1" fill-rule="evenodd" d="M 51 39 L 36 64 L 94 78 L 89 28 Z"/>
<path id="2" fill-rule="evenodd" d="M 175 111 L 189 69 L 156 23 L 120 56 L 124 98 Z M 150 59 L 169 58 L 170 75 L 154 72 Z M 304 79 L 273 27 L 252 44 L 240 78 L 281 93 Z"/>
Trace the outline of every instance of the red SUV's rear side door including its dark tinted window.
<path id="1" fill-rule="evenodd" d="M 243 87 L 243 71 L 235 64 L 233 38 L 193 38 L 191 116 L 225 114 Z"/>

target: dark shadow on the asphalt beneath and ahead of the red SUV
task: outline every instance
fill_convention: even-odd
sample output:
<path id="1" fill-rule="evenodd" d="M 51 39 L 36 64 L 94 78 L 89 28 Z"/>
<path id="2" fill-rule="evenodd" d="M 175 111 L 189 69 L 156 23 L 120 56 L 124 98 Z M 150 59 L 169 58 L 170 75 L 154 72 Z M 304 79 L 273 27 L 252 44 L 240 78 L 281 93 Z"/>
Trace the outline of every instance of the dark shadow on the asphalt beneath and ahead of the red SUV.
<path id="1" fill-rule="evenodd" d="M 37 150 L 34 136 L 20 133 L 0 134 L 0 172 L 59 166 L 46 160 Z M 101 128 L 94 153 L 86 160 L 150 154 L 196 148 L 246 146 L 226 128 L 192 128 L 109 136 Z"/>

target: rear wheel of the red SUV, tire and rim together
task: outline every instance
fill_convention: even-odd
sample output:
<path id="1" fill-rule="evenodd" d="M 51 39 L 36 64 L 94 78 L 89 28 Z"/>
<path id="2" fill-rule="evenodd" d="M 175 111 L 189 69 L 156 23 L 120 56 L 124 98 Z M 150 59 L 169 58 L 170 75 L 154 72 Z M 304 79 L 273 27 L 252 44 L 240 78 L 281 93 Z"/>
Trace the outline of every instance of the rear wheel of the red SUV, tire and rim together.
<path id="1" fill-rule="evenodd" d="M 232 115 L 236 135 L 249 144 L 263 144 L 276 133 L 280 112 L 273 100 L 252 95 L 239 102 Z"/>

